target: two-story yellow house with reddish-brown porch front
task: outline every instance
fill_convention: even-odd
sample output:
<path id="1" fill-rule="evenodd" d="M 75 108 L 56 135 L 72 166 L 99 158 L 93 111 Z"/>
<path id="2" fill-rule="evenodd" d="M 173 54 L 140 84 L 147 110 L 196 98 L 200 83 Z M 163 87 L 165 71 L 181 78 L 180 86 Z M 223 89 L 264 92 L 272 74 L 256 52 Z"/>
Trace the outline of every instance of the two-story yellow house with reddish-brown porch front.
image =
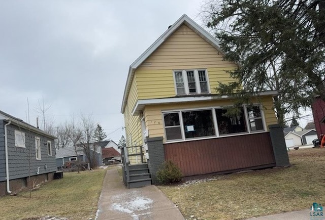
<path id="1" fill-rule="evenodd" d="M 277 123 L 277 93 L 259 94 L 237 117 L 223 116 L 233 101 L 215 87 L 232 81 L 226 71 L 234 68 L 215 37 L 181 16 L 129 67 L 121 107 L 127 146 L 144 146 L 153 162 L 147 141 L 161 140 L 164 159 L 184 175 L 274 166 L 269 125 Z"/>

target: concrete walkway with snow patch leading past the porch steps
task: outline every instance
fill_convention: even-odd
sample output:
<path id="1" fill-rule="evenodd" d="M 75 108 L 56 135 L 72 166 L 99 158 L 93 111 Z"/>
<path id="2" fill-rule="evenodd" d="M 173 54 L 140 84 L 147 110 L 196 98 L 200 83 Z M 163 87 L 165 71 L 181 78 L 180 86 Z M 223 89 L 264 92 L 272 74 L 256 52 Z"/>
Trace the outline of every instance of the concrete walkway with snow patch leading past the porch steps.
<path id="1" fill-rule="evenodd" d="M 155 186 L 126 189 L 117 169 L 107 170 L 96 219 L 184 219 Z"/>

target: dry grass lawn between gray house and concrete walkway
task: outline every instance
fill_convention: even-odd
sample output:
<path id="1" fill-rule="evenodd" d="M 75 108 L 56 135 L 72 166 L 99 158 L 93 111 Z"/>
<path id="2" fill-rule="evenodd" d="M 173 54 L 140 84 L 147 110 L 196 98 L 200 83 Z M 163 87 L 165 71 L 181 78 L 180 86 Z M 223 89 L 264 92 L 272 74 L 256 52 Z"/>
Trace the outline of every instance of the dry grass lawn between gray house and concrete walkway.
<path id="1" fill-rule="evenodd" d="M 0 219 L 37 219 L 59 216 L 94 218 L 106 169 L 65 172 L 63 179 L 46 183 L 39 190 L 0 198 Z"/>

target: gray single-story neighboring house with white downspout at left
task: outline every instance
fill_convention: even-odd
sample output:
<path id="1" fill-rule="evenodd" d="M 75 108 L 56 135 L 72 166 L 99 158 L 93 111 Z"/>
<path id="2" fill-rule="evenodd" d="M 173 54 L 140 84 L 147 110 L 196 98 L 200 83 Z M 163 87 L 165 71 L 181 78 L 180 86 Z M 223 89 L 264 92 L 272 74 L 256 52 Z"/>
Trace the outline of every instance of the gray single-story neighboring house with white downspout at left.
<path id="1" fill-rule="evenodd" d="M 57 171 L 55 139 L 0 111 L 0 196 L 17 193 L 32 187 L 33 183 L 53 180 Z"/>

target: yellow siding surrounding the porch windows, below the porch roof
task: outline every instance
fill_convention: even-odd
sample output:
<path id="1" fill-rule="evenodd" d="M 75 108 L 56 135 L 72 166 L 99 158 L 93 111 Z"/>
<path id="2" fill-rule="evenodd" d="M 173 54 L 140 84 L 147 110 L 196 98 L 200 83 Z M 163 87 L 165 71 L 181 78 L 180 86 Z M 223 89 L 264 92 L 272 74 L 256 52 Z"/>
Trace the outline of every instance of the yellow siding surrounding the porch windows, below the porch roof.
<path id="1" fill-rule="evenodd" d="M 252 100 L 254 101 L 254 100 Z M 276 124 L 277 119 L 273 111 L 272 97 L 264 97 L 260 99 L 264 106 L 264 116 L 267 127 L 270 124 Z M 164 122 L 162 111 L 173 111 L 179 109 L 193 109 L 193 108 L 209 108 L 209 107 L 223 107 L 232 105 L 230 100 L 219 101 L 205 101 L 205 102 L 191 102 L 191 103 L 178 103 L 166 105 L 146 106 L 144 109 L 146 127 L 149 130 L 150 137 L 165 137 Z M 165 142 L 165 140 L 164 140 Z"/>

